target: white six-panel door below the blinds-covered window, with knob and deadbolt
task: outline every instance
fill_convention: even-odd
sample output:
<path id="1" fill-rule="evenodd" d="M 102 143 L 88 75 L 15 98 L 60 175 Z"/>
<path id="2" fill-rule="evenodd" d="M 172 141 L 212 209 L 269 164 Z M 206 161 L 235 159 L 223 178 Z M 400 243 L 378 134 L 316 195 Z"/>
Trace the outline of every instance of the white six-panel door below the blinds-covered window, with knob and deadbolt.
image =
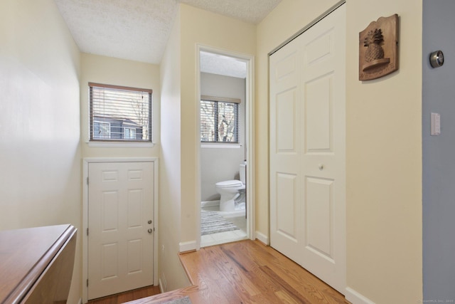
<path id="1" fill-rule="evenodd" d="M 153 285 L 154 162 L 88 168 L 88 299 Z"/>

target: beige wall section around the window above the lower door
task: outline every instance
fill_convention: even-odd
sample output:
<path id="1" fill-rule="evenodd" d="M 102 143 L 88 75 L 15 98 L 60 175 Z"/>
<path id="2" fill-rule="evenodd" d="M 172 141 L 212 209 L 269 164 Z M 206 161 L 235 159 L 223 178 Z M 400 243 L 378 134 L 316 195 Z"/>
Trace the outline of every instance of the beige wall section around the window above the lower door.
<path id="1" fill-rule="evenodd" d="M 97 56 L 87 53 L 81 55 L 80 77 L 80 123 L 82 157 L 154 157 L 159 156 L 159 145 L 133 144 L 133 147 L 89 147 L 89 110 L 88 83 L 123 85 L 132 88 L 151 89 L 153 100 L 153 140 L 160 141 L 160 78 L 159 65 L 127 61 L 124 59 Z M 131 146 L 131 145 L 130 145 Z"/>

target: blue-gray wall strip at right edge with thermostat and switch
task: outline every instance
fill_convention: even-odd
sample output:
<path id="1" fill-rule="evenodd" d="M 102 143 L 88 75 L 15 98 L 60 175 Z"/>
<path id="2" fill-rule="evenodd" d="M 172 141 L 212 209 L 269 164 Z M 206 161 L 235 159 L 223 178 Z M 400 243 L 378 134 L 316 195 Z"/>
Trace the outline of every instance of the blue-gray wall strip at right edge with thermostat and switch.
<path id="1" fill-rule="evenodd" d="M 423 280 L 424 300 L 455 300 L 455 1 L 423 1 Z M 417 46 L 416 46 L 417 47 Z M 441 50 L 445 62 L 429 65 Z M 404 54 L 402 54 L 403 56 Z M 430 136 L 430 113 L 441 135 Z"/>

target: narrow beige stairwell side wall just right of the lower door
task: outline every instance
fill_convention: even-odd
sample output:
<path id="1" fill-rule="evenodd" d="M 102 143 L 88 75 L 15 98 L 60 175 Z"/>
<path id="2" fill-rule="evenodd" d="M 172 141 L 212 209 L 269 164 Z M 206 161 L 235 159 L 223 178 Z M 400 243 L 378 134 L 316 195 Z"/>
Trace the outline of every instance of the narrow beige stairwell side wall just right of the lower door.
<path id="1" fill-rule="evenodd" d="M 173 24 L 161 60 L 159 279 L 165 291 L 189 285 L 178 260 L 181 239 L 181 21 Z"/>

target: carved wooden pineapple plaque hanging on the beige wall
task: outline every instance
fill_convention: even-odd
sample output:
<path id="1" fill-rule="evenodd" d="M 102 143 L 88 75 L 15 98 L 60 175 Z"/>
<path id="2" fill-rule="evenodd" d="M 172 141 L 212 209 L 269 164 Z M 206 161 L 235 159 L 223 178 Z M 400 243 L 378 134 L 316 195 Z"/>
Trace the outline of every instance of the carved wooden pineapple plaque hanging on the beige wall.
<path id="1" fill-rule="evenodd" d="M 398 70 L 398 15 L 380 17 L 359 33 L 358 79 L 372 80 Z"/>

